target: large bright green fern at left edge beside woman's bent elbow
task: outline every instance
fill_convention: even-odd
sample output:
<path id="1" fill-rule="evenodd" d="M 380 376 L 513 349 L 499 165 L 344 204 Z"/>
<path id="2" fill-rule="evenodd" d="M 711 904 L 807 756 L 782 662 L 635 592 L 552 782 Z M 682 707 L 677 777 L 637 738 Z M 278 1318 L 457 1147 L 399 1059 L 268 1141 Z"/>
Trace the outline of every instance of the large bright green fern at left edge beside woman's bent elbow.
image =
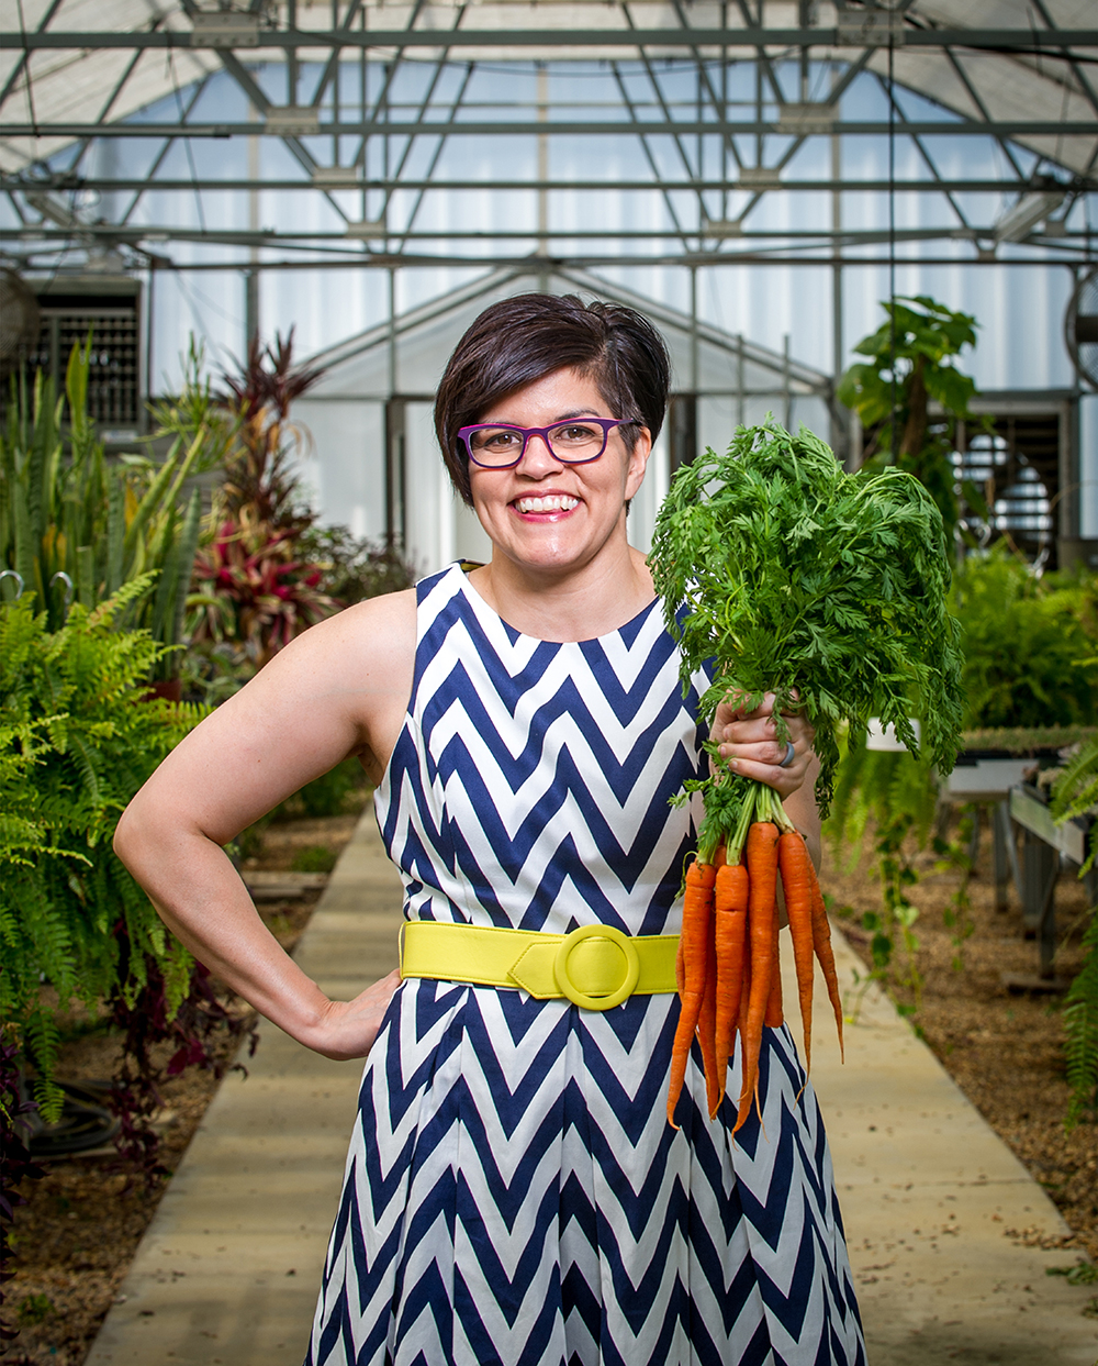
<path id="1" fill-rule="evenodd" d="M 34 1059 L 48 1119 L 61 1101 L 59 1007 L 132 1004 L 150 963 L 169 1014 L 188 989 L 190 955 L 110 847 L 128 800 L 202 714 L 143 701 L 162 647 L 116 624 L 146 589 L 136 579 L 94 612 L 76 602 L 57 631 L 30 597 L 0 608 L 0 1014 Z"/>

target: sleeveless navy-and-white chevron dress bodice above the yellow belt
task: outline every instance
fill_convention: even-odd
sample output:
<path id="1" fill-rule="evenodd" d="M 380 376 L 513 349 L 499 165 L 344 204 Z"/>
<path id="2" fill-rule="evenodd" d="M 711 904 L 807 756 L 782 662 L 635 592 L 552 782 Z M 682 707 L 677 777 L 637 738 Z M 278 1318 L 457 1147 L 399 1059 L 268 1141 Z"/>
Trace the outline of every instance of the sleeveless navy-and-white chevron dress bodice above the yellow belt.
<path id="1" fill-rule="evenodd" d="M 566 933 L 677 933 L 698 769 L 659 602 L 592 641 L 498 617 L 451 567 L 421 594 L 412 702 L 376 792 L 406 914 Z"/>

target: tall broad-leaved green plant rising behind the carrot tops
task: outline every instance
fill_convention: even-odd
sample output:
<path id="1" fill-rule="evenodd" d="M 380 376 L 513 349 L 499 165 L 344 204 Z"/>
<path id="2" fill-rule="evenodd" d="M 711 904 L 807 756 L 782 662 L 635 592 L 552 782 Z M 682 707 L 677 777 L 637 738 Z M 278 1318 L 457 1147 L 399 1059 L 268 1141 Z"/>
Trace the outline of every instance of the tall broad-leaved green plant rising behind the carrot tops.
<path id="1" fill-rule="evenodd" d="M 896 464 L 923 484 L 941 512 L 952 550 L 962 499 L 986 518 L 979 490 L 966 481 L 958 489 L 953 470 L 955 426 L 981 426 L 968 404 L 974 380 L 953 363 L 977 343 L 977 321 L 926 295 L 882 302 L 887 321 L 854 350 L 869 359 L 839 380 L 836 396 L 854 408 L 865 429 L 863 458 L 874 469 Z M 930 402 L 943 417 L 932 421 Z M 960 497 L 959 497 L 960 494 Z"/>

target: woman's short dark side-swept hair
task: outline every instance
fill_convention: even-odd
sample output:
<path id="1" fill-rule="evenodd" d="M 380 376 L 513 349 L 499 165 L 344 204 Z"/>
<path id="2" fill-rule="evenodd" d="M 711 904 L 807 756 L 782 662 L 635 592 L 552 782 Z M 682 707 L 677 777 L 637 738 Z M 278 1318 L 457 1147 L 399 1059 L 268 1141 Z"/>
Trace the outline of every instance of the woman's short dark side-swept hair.
<path id="1" fill-rule="evenodd" d="M 516 294 L 491 305 L 458 342 L 435 395 L 435 432 L 450 481 L 472 507 L 469 458 L 458 429 L 477 422 L 509 393 L 554 370 L 591 376 L 636 445 L 641 428 L 655 441 L 663 426 L 671 362 L 667 346 L 636 309 L 574 294 Z"/>

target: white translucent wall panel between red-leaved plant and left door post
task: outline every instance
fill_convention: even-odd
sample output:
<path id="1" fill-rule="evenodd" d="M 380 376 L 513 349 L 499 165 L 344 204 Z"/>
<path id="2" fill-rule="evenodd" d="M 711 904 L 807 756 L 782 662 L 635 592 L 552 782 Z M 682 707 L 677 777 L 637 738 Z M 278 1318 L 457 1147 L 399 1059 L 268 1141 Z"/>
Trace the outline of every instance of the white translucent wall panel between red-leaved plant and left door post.
<path id="1" fill-rule="evenodd" d="M 385 410 L 356 399 L 299 399 L 293 419 L 304 428 L 301 478 L 325 526 L 353 535 L 385 537 Z"/>

